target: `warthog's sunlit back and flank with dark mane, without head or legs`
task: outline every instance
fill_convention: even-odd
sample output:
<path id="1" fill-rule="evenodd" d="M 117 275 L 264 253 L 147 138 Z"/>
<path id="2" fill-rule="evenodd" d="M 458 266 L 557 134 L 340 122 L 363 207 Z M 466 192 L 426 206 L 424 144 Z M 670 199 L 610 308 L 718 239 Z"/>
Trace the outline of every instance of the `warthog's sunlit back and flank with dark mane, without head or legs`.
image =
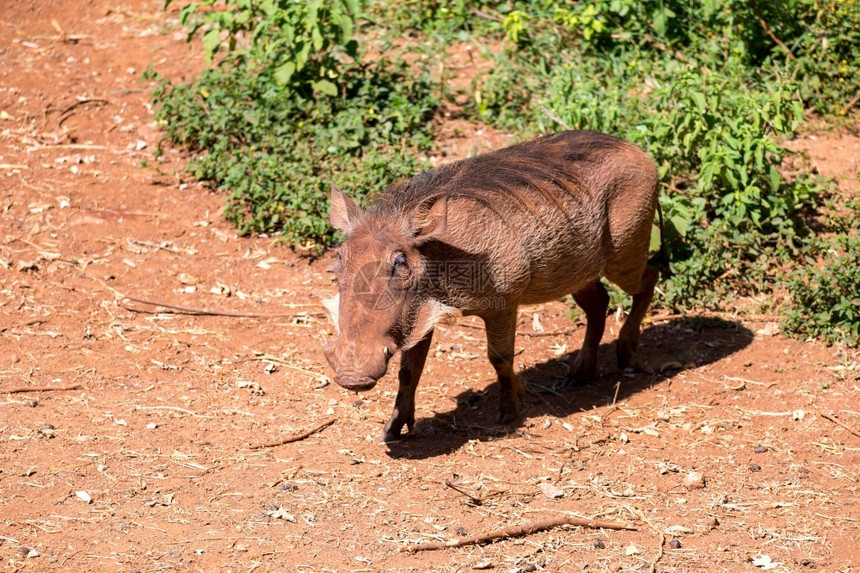
<path id="1" fill-rule="evenodd" d="M 635 145 L 567 131 L 422 173 L 389 188 L 371 211 L 392 216 L 447 195 L 450 249 L 439 256 L 480 260 L 493 291 L 531 303 L 604 273 L 614 282 L 641 275 L 657 183 Z"/>

